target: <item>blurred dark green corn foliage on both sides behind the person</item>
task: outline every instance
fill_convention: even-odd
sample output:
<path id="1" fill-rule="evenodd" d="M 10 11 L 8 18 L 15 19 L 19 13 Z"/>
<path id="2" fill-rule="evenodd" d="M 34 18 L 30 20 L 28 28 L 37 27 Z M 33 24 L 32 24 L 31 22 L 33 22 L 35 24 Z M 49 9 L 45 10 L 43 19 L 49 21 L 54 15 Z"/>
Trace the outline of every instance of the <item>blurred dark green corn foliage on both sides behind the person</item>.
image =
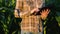
<path id="1" fill-rule="evenodd" d="M 21 18 L 15 18 L 16 0 L 0 0 L 0 34 L 19 34 Z M 45 0 L 45 6 L 52 6 L 44 21 L 44 34 L 60 33 L 60 0 Z"/>

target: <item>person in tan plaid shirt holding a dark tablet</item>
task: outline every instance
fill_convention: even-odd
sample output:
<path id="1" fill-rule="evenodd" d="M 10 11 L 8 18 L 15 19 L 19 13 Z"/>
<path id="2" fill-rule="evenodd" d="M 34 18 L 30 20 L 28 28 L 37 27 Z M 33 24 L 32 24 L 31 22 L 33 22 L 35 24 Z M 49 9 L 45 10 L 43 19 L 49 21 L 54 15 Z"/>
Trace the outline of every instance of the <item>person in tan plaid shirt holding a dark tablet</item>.
<path id="1" fill-rule="evenodd" d="M 19 5 L 18 1 L 21 3 L 21 5 Z M 18 12 L 16 10 L 15 17 L 22 18 L 21 34 L 42 34 L 43 26 L 41 19 L 45 20 L 49 14 L 49 9 L 39 12 L 38 8 L 41 8 L 42 5 L 42 0 L 17 0 L 16 9 L 20 10 L 20 17 L 18 16 Z M 38 12 L 41 15 L 36 15 Z"/>

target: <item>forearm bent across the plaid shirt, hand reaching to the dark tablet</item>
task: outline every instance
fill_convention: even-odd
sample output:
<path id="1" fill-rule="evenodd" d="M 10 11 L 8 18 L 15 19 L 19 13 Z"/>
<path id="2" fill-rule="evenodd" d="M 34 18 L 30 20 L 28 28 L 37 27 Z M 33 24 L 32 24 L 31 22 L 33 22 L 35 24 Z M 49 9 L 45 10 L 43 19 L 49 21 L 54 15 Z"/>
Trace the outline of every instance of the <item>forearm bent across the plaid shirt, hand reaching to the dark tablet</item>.
<path id="1" fill-rule="evenodd" d="M 39 10 L 38 10 L 37 8 L 35 8 L 35 9 L 33 9 L 32 11 L 20 12 L 19 15 L 18 15 L 18 11 L 15 10 L 14 15 L 15 15 L 15 17 L 17 17 L 17 18 L 19 18 L 19 16 L 22 18 L 22 17 L 24 17 L 24 16 L 29 16 L 29 15 L 31 15 L 32 13 L 38 12 L 38 11 L 39 11 Z"/>

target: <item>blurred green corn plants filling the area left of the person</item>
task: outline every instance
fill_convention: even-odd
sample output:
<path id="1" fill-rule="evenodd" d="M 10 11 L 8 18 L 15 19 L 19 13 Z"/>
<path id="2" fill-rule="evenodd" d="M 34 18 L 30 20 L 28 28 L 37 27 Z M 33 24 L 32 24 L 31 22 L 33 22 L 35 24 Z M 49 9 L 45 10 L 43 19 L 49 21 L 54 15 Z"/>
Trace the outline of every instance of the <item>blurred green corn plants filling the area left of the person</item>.
<path id="1" fill-rule="evenodd" d="M 0 0 L 0 34 L 18 33 L 18 22 L 14 17 L 16 0 Z"/>

